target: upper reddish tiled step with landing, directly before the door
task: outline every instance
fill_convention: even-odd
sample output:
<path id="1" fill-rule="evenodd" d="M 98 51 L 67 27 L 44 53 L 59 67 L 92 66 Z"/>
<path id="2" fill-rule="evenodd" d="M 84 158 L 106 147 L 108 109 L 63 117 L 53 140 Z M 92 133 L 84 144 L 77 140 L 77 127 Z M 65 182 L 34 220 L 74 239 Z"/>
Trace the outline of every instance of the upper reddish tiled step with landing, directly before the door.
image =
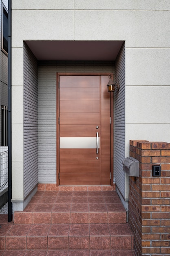
<path id="1" fill-rule="evenodd" d="M 124 224 L 116 191 L 38 191 L 14 224 Z"/>

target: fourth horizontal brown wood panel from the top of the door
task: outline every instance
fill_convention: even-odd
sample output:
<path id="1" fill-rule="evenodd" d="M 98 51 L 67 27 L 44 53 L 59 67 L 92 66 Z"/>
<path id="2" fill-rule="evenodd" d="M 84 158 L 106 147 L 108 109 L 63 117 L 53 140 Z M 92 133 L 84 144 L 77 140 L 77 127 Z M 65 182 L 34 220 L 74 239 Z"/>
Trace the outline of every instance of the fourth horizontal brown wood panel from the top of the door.
<path id="1" fill-rule="evenodd" d="M 60 113 L 60 124 L 99 124 L 100 113 Z"/>

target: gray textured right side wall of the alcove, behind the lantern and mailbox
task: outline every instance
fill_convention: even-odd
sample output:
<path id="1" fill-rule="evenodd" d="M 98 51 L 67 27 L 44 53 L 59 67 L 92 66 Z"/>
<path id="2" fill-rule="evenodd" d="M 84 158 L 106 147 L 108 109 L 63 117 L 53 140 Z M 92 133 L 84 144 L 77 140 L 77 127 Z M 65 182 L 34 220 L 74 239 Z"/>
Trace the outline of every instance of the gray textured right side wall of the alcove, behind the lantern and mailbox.
<path id="1" fill-rule="evenodd" d="M 114 175 L 115 183 L 126 200 L 125 173 L 122 170 L 125 157 L 125 46 L 116 59 L 116 74 L 120 90 L 114 92 Z"/>

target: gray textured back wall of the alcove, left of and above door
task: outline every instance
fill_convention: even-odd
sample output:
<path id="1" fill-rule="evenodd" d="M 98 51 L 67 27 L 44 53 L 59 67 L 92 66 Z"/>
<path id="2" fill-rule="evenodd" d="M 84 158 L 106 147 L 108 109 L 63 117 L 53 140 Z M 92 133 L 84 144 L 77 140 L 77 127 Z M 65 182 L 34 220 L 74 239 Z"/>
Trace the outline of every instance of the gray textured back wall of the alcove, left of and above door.
<path id="1" fill-rule="evenodd" d="M 56 183 L 56 73 L 114 72 L 103 61 L 44 61 L 38 67 L 38 181 Z"/>

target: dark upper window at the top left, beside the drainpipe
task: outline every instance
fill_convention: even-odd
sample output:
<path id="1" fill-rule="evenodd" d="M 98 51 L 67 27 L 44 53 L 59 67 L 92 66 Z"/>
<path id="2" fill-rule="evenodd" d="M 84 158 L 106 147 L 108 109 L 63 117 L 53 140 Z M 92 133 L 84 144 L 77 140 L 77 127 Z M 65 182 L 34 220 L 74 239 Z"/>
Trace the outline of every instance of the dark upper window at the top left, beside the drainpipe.
<path id="1" fill-rule="evenodd" d="M 2 6 L 2 50 L 8 53 L 8 13 Z"/>

